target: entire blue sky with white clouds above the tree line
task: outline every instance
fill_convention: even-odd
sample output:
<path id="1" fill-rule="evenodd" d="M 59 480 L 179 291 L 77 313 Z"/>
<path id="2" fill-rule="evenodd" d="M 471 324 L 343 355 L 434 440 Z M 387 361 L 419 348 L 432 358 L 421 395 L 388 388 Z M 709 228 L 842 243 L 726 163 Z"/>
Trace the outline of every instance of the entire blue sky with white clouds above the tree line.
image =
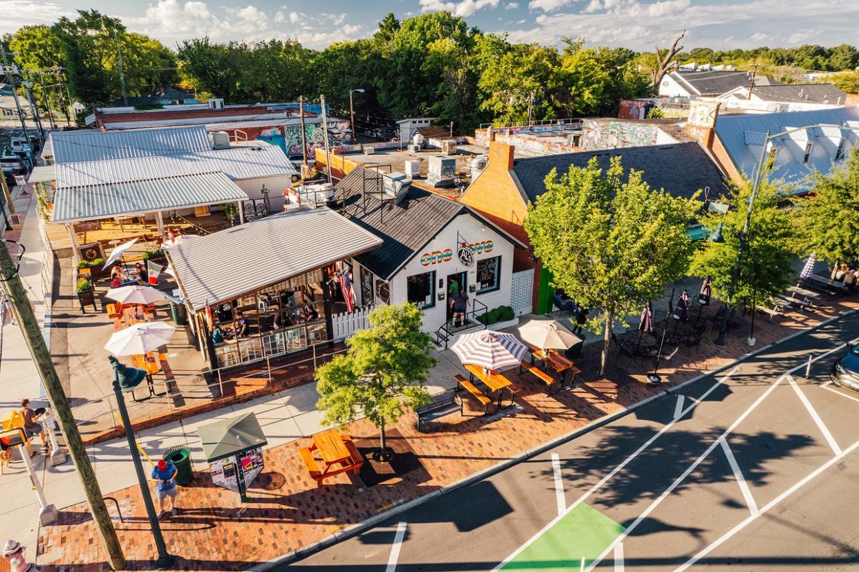
<path id="1" fill-rule="evenodd" d="M 437 10 L 484 32 L 541 44 L 581 36 L 591 45 L 650 51 L 683 29 L 687 50 L 859 44 L 859 0 L 0 0 L 0 33 L 90 8 L 168 46 L 208 35 L 295 38 L 321 49 L 372 35 L 389 11 L 405 18 Z"/>

